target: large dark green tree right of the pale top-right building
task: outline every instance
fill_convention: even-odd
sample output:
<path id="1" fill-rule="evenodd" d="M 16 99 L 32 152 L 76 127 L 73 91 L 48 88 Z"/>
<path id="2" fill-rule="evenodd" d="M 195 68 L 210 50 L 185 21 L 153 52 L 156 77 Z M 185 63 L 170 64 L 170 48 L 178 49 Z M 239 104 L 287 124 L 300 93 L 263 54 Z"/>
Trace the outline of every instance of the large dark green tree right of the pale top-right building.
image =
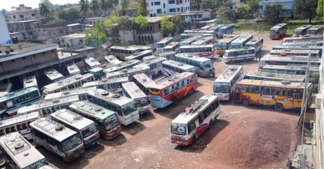
<path id="1" fill-rule="evenodd" d="M 309 23 L 311 24 L 312 19 L 316 16 L 316 8 L 317 0 L 296 0 L 293 12 L 295 16 L 309 19 Z"/>

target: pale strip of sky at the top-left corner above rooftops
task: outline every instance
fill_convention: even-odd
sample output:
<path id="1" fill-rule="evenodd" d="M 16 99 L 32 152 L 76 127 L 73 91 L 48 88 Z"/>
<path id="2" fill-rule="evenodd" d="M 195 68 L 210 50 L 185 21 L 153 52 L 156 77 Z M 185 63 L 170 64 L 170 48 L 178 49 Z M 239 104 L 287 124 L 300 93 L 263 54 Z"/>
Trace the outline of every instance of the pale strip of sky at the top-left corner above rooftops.
<path id="1" fill-rule="evenodd" d="M 32 7 L 32 8 L 38 8 L 38 4 L 41 2 L 41 0 L 0 0 L 0 8 L 1 9 L 6 9 L 7 11 L 11 11 L 11 7 L 15 6 L 18 7 L 19 4 L 24 4 L 27 7 Z M 70 4 L 75 4 L 78 3 L 79 0 L 49 0 L 52 4 L 59 4 L 59 5 L 64 5 L 67 3 Z M 1 10 L 0 9 L 0 10 Z"/>

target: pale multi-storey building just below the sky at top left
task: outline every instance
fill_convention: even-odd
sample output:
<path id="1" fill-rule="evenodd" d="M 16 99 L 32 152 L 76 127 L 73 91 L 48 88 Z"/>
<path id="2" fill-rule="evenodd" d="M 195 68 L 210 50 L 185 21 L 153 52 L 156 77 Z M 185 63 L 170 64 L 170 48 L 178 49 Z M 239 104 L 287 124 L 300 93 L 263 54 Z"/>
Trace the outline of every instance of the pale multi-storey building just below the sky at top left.
<path id="1" fill-rule="evenodd" d="M 24 4 L 20 4 L 19 7 L 11 7 L 11 9 L 13 10 L 6 12 L 9 22 L 45 19 L 38 8 L 32 9 L 31 7 L 25 7 Z"/>

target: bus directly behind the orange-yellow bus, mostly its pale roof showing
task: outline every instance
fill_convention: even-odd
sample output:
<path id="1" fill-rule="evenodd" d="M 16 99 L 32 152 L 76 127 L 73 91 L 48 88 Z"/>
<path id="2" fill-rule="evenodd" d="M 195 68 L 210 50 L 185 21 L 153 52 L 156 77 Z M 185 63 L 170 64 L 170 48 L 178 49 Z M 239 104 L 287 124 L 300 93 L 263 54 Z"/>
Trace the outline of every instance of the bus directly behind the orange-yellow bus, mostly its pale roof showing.
<path id="1" fill-rule="evenodd" d="M 292 82 L 305 82 L 305 75 L 263 72 L 263 70 L 261 70 L 261 71 L 251 71 L 247 73 L 243 79 L 272 80 L 272 81 L 289 80 Z"/>

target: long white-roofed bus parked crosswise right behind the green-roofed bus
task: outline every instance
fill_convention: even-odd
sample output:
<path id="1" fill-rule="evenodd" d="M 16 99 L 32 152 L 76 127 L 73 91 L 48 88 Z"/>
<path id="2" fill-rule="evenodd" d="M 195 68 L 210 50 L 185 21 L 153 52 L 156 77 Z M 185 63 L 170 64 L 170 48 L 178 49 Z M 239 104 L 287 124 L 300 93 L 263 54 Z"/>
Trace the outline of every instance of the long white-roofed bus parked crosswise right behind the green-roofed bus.
<path id="1" fill-rule="evenodd" d="M 54 113 L 58 110 L 67 109 L 68 105 L 72 104 L 75 101 L 79 101 L 78 96 L 70 96 L 64 98 L 57 98 L 52 100 L 45 100 L 38 104 L 33 104 L 20 108 L 17 114 L 28 114 L 31 112 L 38 112 L 41 117 L 50 117 L 51 113 Z"/>

